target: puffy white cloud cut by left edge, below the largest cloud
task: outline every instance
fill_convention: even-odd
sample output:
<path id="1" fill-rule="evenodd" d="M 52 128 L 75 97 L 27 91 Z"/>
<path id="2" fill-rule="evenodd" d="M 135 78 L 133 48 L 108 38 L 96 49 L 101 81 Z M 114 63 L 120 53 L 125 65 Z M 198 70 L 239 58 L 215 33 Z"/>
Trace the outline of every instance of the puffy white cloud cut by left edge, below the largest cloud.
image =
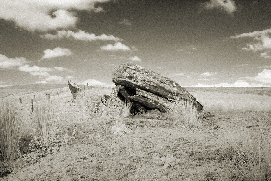
<path id="1" fill-rule="evenodd" d="M 27 63 L 29 62 L 24 57 L 8 58 L 7 56 L 0 54 L 0 68 L 14 69 Z"/>

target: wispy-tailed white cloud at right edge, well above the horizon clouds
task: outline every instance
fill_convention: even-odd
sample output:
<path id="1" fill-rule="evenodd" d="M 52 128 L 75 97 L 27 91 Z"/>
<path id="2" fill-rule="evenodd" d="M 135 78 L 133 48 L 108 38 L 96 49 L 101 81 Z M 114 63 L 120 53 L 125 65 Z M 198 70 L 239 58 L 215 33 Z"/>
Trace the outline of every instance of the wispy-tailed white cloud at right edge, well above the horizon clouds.
<path id="1" fill-rule="evenodd" d="M 247 47 L 242 48 L 244 51 L 262 52 L 260 57 L 271 58 L 271 28 L 263 31 L 253 31 L 249 33 L 242 33 L 240 35 L 231 36 L 233 39 L 239 38 L 253 38 L 251 43 L 247 44 Z"/>

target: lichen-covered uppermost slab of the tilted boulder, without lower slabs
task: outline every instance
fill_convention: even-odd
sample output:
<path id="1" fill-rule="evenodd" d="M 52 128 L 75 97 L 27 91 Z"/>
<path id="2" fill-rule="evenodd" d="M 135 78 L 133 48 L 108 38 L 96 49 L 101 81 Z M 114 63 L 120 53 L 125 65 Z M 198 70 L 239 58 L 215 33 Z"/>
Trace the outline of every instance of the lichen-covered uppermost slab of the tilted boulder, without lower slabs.
<path id="1" fill-rule="evenodd" d="M 198 111 L 204 111 L 203 106 L 188 91 L 170 78 L 140 67 L 133 63 L 121 64 L 114 68 L 112 81 L 115 85 L 125 87 L 130 96 L 136 95 L 136 88 L 150 92 L 169 100 L 174 96 L 191 101 Z M 148 107 L 147 105 L 143 105 Z"/>

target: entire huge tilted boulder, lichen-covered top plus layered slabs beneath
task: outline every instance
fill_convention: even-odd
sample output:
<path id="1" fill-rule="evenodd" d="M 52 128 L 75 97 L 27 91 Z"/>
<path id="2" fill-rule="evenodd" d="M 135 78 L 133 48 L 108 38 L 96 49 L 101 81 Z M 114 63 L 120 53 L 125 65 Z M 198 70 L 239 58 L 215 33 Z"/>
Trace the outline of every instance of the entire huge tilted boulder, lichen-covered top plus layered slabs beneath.
<path id="1" fill-rule="evenodd" d="M 141 112 L 151 109 L 165 111 L 174 96 L 191 101 L 197 105 L 198 111 L 204 111 L 196 98 L 178 83 L 133 63 L 115 67 L 112 81 L 115 85 L 123 86 L 119 89 L 119 98 L 141 107 Z"/>

